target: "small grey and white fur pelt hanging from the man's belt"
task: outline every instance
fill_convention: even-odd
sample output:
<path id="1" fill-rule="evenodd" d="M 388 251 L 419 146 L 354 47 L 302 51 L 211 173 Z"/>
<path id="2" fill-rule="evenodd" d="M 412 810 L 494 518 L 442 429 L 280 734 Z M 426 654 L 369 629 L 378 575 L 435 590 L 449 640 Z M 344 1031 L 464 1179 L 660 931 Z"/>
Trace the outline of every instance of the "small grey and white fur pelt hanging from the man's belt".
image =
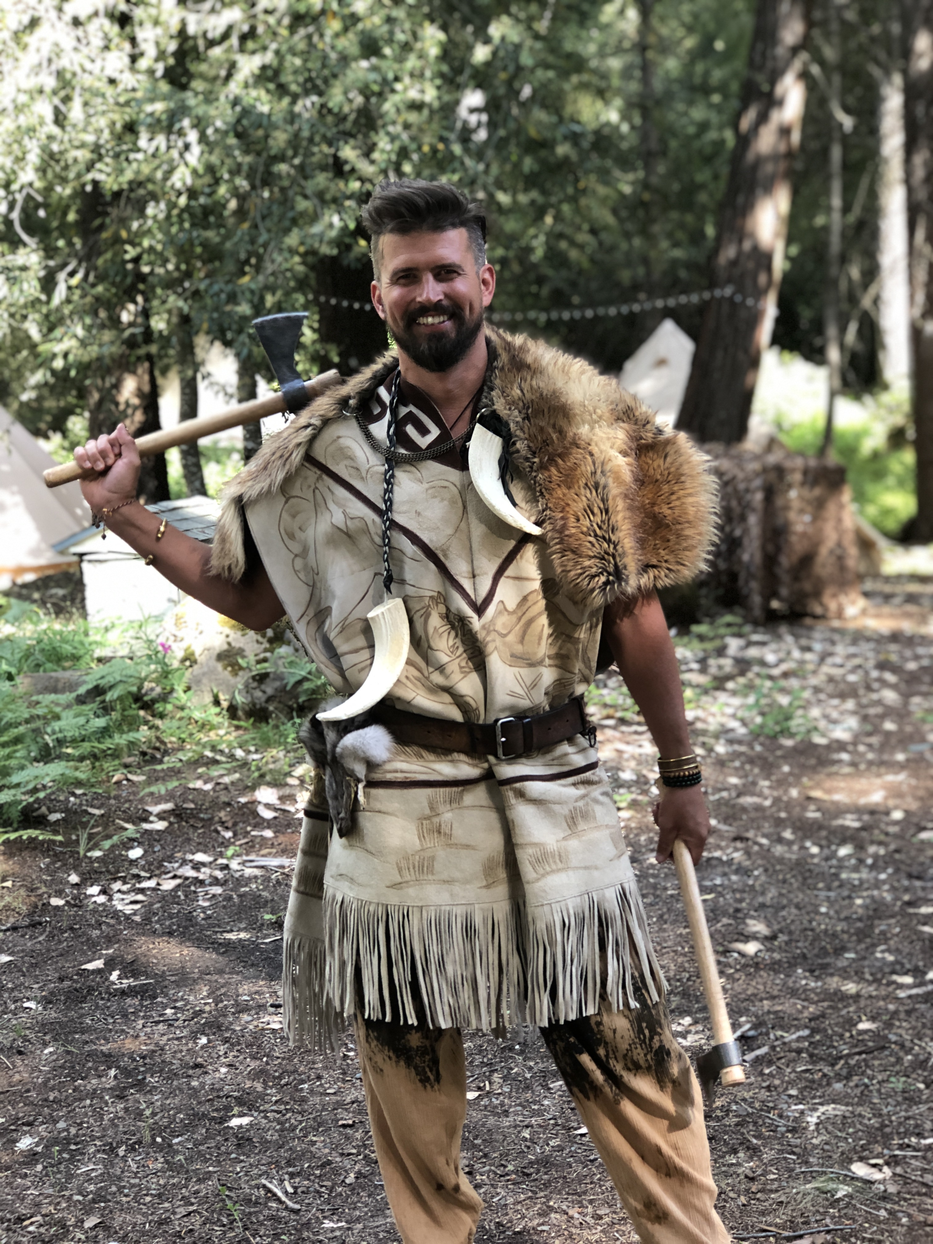
<path id="1" fill-rule="evenodd" d="M 328 699 L 317 712 L 340 703 L 338 697 Z M 315 714 L 299 730 L 299 739 L 311 763 L 325 774 L 327 810 L 337 833 L 345 838 L 353 829 L 353 804 L 357 795 L 362 799 L 366 775 L 391 760 L 394 740 L 384 725 L 372 722 L 369 713 L 346 722 L 320 722 Z"/>

